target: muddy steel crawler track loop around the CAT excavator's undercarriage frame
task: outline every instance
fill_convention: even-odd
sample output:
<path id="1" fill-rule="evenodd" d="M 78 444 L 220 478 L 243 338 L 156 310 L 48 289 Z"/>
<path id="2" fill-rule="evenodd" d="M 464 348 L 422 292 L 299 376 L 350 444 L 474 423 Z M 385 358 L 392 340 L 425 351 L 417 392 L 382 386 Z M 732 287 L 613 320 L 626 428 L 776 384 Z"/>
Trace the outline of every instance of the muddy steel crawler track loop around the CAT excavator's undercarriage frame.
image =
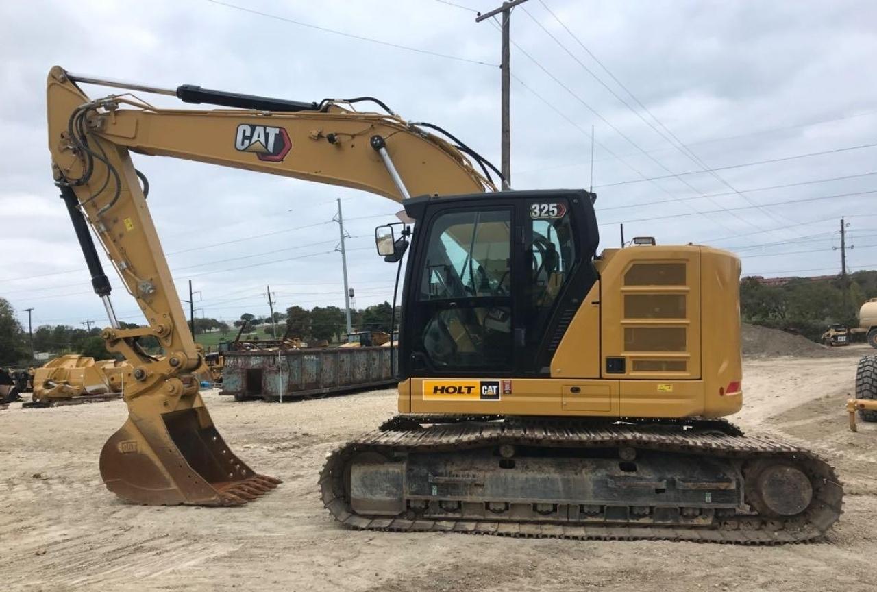
<path id="1" fill-rule="evenodd" d="M 390 420 L 382 429 L 353 439 L 330 454 L 320 474 L 325 507 L 342 524 L 354 529 L 383 531 L 454 531 L 514 537 L 566 539 L 670 539 L 732 544 L 773 545 L 821 538 L 841 514 L 843 488 L 834 469 L 815 453 L 770 437 L 747 437 L 721 420 L 632 421 L 607 424 L 551 418 L 430 417 L 407 416 Z M 459 512 L 459 516 L 431 517 L 431 508 L 409 508 L 396 516 L 360 515 L 353 511 L 346 493 L 349 466 L 362 453 L 404 458 L 411 453 L 466 453 L 496 450 L 503 445 L 538 447 L 545 451 L 620 449 L 630 447 L 649 453 L 686 454 L 723 459 L 739 467 L 755 462 L 788 462 L 800 467 L 813 488 L 806 510 L 792 517 L 760 515 L 752 508 L 746 484 L 745 503 L 737 510 L 698 510 L 689 518 L 683 512 L 661 522 L 658 506 L 638 510 L 619 519 L 585 515 L 578 506 L 558 506 L 550 516 L 516 519 L 514 512 L 496 516 L 489 511 Z M 499 500 L 498 502 L 502 502 Z M 509 500 L 513 508 L 517 501 Z M 437 502 L 438 503 L 438 502 Z M 588 506 L 581 506 L 582 509 Z M 574 511 L 572 509 L 575 509 Z M 562 510 L 562 511 L 560 511 Z M 609 514 L 609 512 L 605 512 Z"/>

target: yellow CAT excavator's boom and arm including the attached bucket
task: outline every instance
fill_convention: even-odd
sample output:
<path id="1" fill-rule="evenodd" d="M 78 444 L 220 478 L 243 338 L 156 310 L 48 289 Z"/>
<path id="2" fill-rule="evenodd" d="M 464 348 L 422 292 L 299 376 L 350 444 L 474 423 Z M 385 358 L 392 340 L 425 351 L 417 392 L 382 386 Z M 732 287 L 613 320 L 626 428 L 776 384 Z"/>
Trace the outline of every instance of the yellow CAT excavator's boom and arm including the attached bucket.
<path id="1" fill-rule="evenodd" d="M 130 94 L 92 100 L 77 82 L 252 109 L 158 109 Z M 392 112 L 354 111 L 359 99 L 296 103 L 191 86 L 168 91 L 59 67 L 48 75 L 46 94 L 53 175 L 110 317 L 103 338 L 132 367 L 125 376 L 128 420 L 101 453 L 108 489 L 132 502 L 239 504 L 279 482 L 231 452 L 198 393 L 191 373 L 200 355 L 149 212 L 146 177 L 134 167 L 132 152 L 363 189 L 396 201 L 496 190 L 486 162 L 453 136 L 455 143 Z M 120 328 L 89 227 L 146 326 Z M 147 336 L 159 340 L 163 357 L 139 348 L 138 339 Z"/>

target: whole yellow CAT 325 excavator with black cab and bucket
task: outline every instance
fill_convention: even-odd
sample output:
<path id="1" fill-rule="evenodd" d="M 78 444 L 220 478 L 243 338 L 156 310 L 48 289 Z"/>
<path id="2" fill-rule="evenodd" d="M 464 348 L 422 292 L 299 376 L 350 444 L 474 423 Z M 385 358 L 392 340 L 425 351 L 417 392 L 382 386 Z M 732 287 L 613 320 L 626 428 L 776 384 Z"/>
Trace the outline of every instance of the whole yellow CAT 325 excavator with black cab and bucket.
<path id="1" fill-rule="evenodd" d="M 90 99 L 85 83 L 125 94 Z M 221 109 L 158 109 L 132 91 Z M 321 495 L 341 523 L 772 544 L 816 539 L 838 519 L 843 489 L 824 460 L 721 419 L 743 403 L 731 253 L 647 238 L 598 253 L 594 194 L 496 191 L 496 168 L 460 139 L 373 97 L 300 103 L 55 67 L 47 107 L 54 179 L 110 317 L 103 337 L 131 364 L 129 417 L 100 463 L 118 496 L 231 505 L 280 482 L 232 453 L 198 395 L 140 153 L 403 204 L 403 222 L 375 236 L 400 271 L 407 259 L 399 415 L 326 460 Z M 89 226 L 146 327 L 118 327 Z M 146 336 L 163 358 L 139 348 Z"/>

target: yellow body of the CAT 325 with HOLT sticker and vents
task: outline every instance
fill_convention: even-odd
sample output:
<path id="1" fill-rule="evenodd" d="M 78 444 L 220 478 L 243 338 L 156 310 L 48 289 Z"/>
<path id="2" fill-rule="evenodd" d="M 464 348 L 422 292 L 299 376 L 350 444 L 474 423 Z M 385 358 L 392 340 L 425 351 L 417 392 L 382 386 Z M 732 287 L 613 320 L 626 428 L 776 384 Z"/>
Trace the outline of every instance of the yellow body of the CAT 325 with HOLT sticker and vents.
<path id="1" fill-rule="evenodd" d="M 550 378 L 410 378 L 405 413 L 588 417 L 723 417 L 743 405 L 738 278 L 731 253 L 706 246 L 603 251 L 600 280 L 575 314 Z M 728 314 L 734 311 L 734 314 Z M 624 370 L 607 372 L 607 360 Z M 496 380 L 496 379 L 491 379 Z"/>

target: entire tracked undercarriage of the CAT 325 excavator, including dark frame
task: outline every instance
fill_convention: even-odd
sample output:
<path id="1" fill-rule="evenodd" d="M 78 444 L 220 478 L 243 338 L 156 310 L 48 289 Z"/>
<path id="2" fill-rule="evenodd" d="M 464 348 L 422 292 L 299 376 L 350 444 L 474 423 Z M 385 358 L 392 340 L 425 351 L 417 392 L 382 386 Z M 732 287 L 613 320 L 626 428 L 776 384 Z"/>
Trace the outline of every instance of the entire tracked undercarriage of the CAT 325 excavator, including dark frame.
<path id="1" fill-rule="evenodd" d="M 696 419 L 398 416 L 320 484 L 357 529 L 741 544 L 818 539 L 843 496 L 816 454 Z"/>

